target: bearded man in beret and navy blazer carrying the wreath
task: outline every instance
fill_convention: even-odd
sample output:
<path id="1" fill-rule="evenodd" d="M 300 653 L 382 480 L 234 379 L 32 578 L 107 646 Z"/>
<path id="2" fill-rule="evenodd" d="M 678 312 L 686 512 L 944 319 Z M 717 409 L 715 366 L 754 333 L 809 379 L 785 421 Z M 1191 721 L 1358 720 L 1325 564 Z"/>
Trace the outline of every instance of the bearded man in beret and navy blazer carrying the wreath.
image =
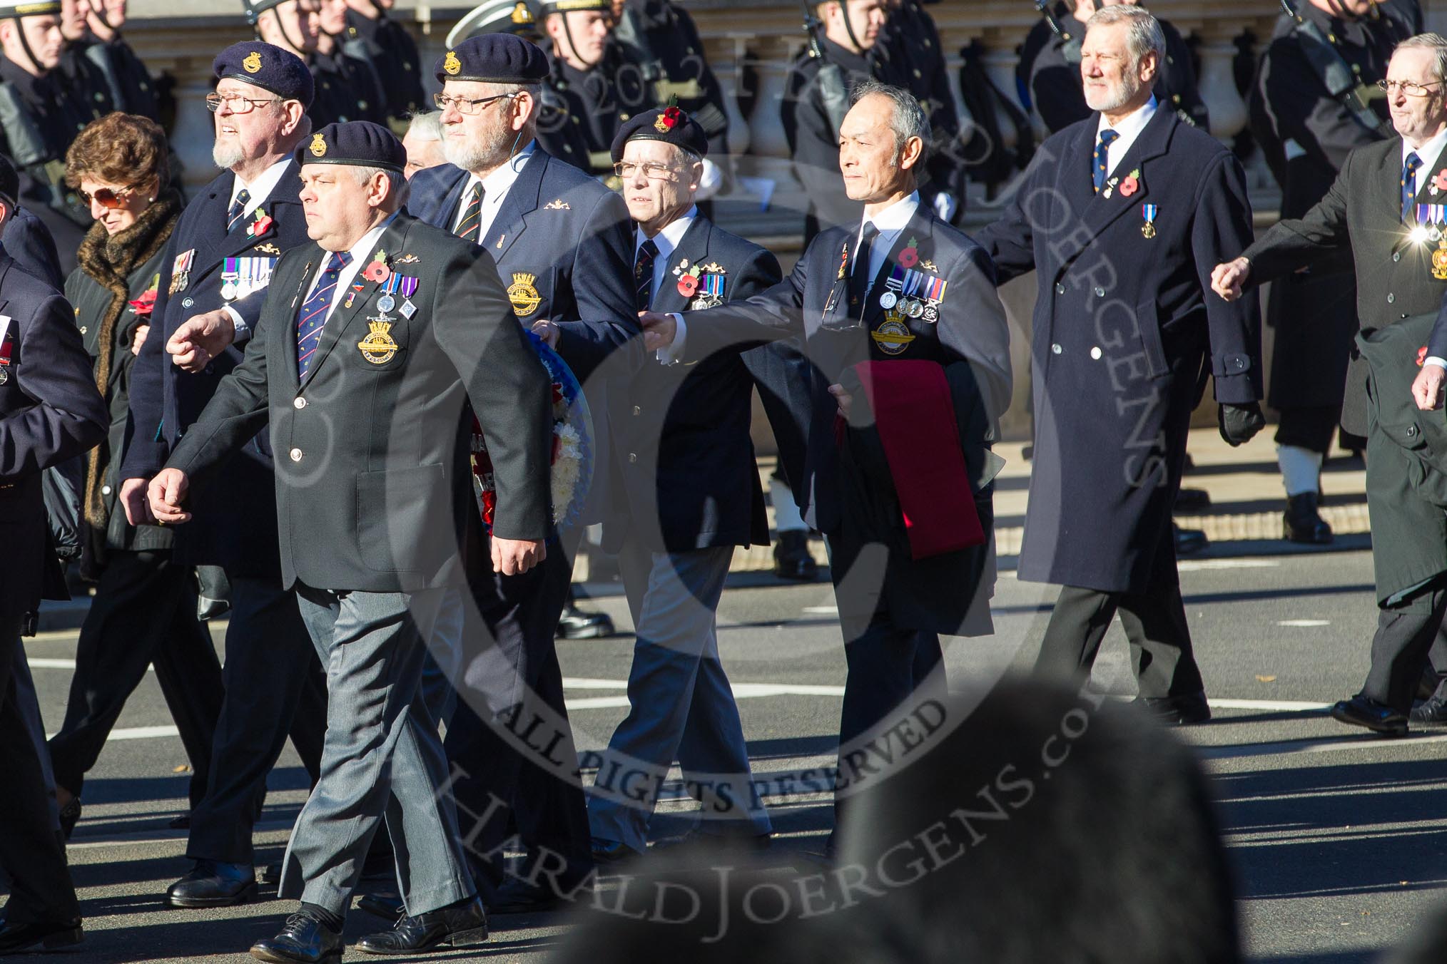
<path id="1" fill-rule="evenodd" d="M 593 413 L 598 470 L 583 522 L 598 522 L 608 499 L 606 412 L 609 400 L 618 400 L 605 386 L 615 376 L 603 363 L 618 356 L 627 369 L 628 353 L 637 353 L 628 211 L 618 195 L 535 143 L 547 75 L 535 45 L 511 33 L 473 36 L 438 59 L 436 75 L 450 163 L 412 176 L 408 210 L 488 251 L 521 325 L 560 322 L 557 350 L 583 382 Z M 579 536 L 576 526 L 554 533 L 548 558 L 532 572 L 483 574 L 473 585 L 486 630 L 467 633 L 467 687 L 460 688 L 446 746 L 460 770 L 451 789 L 472 869 L 493 912 L 557 900 L 531 880 L 547 854 L 564 861 L 559 879 L 567 886 L 592 869 L 582 788 L 527 760 L 495 733 L 499 714 L 525 688 L 554 714 L 572 746 L 554 633 Z M 509 809 L 492 808 L 493 796 Z M 530 857 L 524 874 L 505 886 L 501 843 L 509 819 Z"/>

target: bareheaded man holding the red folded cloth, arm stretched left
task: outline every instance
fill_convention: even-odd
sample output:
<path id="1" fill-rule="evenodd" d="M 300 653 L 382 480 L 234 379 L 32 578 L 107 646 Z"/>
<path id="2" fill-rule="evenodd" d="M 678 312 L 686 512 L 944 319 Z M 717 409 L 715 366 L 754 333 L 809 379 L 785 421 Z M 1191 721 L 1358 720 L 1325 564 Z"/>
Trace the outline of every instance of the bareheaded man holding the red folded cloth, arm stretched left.
<path id="1" fill-rule="evenodd" d="M 990 480 L 998 460 L 990 445 L 1010 400 L 1010 332 L 990 259 L 920 204 L 915 178 L 929 140 L 923 108 L 909 91 L 873 81 L 855 88 L 852 100 L 839 163 L 851 198 L 864 204 L 861 223 L 822 231 L 790 276 L 760 295 L 702 315 L 644 315 L 645 347 L 671 347 L 684 364 L 805 335 L 818 371 L 799 491 L 807 499 L 806 519 L 829 542 L 849 665 L 836 818 L 870 776 L 870 753 L 860 741 L 890 740 L 891 726 L 928 700 L 920 689 L 943 682 L 935 672 L 939 634 L 991 632 Z M 860 397 L 865 376 L 858 373 L 890 380 L 894 361 L 913 363 L 909 371 L 942 389 L 928 405 L 909 392 L 886 399 L 930 435 L 925 444 L 906 439 L 909 432 L 875 429 L 874 408 Z M 880 454 L 896 441 L 909 449 L 897 452 L 904 461 Z M 968 500 L 929 496 L 938 525 L 906 526 L 904 494 L 919 496 L 929 462 L 946 452 L 955 460 L 951 481 Z M 906 471 L 909 460 L 913 470 Z M 912 532 L 926 530 L 932 543 L 917 548 Z"/>

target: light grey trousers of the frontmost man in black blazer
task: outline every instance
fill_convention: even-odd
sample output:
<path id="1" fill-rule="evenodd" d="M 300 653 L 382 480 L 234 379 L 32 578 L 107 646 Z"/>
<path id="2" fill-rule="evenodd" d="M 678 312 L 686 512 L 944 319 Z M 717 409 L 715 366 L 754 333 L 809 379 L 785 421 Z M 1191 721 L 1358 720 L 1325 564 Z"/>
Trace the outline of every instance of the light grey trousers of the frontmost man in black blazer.
<path id="1" fill-rule="evenodd" d="M 437 720 L 441 694 L 423 691 L 428 639 L 457 626 L 456 590 L 333 593 L 297 585 L 301 617 L 327 671 L 321 778 L 297 818 L 279 896 L 344 915 L 382 818 L 411 915 L 475 890 L 446 792 Z M 433 640 L 434 647 L 457 640 Z"/>

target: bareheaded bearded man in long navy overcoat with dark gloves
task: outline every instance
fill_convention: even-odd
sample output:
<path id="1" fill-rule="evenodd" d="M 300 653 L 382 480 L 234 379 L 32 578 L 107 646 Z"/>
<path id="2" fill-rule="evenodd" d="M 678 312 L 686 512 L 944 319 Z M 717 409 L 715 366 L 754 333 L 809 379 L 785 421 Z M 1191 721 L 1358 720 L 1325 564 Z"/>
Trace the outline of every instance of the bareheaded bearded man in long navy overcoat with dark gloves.
<path id="1" fill-rule="evenodd" d="M 1160 25 L 1091 17 L 1081 62 L 1100 113 L 1042 145 L 980 233 L 1000 280 L 1035 270 L 1035 470 L 1019 577 L 1064 588 L 1037 668 L 1090 673 L 1119 610 L 1140 698 L 1169 723 L 1210 718 L 1175 567 L 1171 507 L 1204 373 L 1231 445 L 1265 419 L 1260 311 L 1210 289 L 1252 237 L 1231 152 L 1158 110 Z M 1208 366 L 1208 367 L 1205 367 Z"/>

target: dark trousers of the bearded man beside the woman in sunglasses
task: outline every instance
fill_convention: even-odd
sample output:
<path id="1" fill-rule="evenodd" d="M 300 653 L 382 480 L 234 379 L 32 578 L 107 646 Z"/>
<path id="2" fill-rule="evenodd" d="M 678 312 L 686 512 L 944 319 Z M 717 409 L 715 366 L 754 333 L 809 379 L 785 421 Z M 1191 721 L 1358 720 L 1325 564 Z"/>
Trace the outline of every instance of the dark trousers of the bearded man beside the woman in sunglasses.
<path id="1" fill-rule="evenodd" d="M 249 864 L 266 775 L 288 731 L 311 782 L 317 782 L 327 698 L 295 594 L 282 590 L 279 580 L 233 577 L 230 582 L 226 701 L 216 724 L 205 798 L 191 812 L 187 857 Z"/>

